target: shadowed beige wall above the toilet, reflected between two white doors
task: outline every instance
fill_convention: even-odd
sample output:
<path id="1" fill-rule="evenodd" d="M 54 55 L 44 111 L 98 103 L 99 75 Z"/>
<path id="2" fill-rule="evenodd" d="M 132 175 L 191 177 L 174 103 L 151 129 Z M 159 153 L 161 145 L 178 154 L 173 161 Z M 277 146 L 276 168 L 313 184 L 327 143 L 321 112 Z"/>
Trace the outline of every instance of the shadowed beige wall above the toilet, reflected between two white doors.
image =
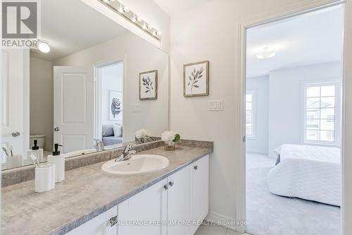
<path id="1" fill-rule="evenodd" d="M 30 56 L 30 135 L 45 135 L 47 151 L 53 149 L 53 64 Z"/>

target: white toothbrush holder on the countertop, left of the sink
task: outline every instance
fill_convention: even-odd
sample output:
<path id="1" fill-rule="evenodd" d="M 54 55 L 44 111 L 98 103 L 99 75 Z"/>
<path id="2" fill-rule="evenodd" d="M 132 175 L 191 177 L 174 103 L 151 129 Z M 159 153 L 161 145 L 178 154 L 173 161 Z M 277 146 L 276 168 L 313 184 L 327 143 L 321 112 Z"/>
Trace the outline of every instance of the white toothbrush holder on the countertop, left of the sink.
<path id="1" fill-rule="evenodd" d="M 34 192 L 43 193 L 55 188 L 55 165 L 42 164 L 35 167 Z"/>

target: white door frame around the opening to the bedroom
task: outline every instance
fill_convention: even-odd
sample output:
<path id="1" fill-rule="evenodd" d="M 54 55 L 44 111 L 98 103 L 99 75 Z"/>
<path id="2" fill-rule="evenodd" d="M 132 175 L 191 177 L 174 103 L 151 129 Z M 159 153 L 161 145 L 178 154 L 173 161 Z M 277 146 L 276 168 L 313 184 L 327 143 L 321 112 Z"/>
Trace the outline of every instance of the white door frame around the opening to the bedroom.
<path id="1" fill-rule="evenodd" d="M 274 22 L 277 20 L 282 20 L 284 18 L 291 18 L 292 16 L 298 16 L 303 13 L 308 13 L 311 11 L 317 11 L 322 8 L 327 8 L 329 6 L 335 6 L 338 4 L 346 3 L 345 0 L 314 0 L 308 3 L 299 3 L 288 6 L 280 11 L 274 11 L 269 13 L 264 13 L 260 16 L 251 18 L 244 22 L 238 24 L 238 114 L 239 119 L 237 120 L 237 130 L 239 130 L 239 140 L 237 141 L 237 155 L 239 156 L 237 162 L 237 193 L 236 193 L 236 220 L 237 220 L 237 231 L 244 233 L 246 231 L 246 138 L 245 138 L 245 101 L 246 101 L 246 30 L 249 28 L 256 27 L 258 25 L 263 25 L 265 23 Z M 345 6 L 345 14 L 346 6 Z M 345 16 L 346 19 L 346 16 Z M 344 25 L 345 41 L 344 41 L 344 52 L 346 49 L 346 20 Z M 345 54 L 345 53 L 344 53 Z M 346 59 L 346 58 L 344 58 Z M 344 123 L 345 123 L 345 112 L 344 112 L 344 102 L 345 102 L 345 80 L 346 80 L 346 63 L 344 62 L 344 76 L 342 78 L 342 117 L 341 117 L 341 129 L 342 129 L 342 141 L 341 141 L 341 174 L 342 174 L 342 191 L 341 191 L 341 228 L 342 234 L 344 234 L 345 226 L 345 212 L 344 212 Z"/>

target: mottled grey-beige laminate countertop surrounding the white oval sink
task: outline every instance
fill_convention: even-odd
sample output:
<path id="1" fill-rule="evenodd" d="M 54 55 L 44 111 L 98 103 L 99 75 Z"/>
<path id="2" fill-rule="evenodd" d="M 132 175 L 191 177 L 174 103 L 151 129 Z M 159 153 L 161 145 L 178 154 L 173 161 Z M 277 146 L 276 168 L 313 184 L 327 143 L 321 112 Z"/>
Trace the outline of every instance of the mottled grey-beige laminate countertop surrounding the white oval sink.
<path id="1" fill-rule="evenodd" d="M 34 181 L 2 188 L 1 234 L 65 234 L 209 153 L 203 147 L 158 147 L 138 153 L 170 160 L 168 167 L 150 174 L 109 176 L 100 162 L 66 171 L 65 181 L 46 193 L 34 193 Z"/>

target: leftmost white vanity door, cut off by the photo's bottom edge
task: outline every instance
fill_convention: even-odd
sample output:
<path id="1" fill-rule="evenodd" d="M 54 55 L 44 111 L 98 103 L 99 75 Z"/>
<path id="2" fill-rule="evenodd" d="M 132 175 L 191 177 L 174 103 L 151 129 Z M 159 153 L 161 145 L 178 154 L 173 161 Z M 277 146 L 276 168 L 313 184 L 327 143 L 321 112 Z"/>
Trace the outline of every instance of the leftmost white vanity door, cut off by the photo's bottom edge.
<path id="1" fill-rule="evenodd" d="M 66 235 L 116 235 L 116 224 L 111 227 L 106 224 L 106 221 L 116 216 L 117 212 L 118 209 L 115 206 L 107 212 L 103 212 L 101 215 L 85 222 L 80 227 L 69 231 Z"/>

